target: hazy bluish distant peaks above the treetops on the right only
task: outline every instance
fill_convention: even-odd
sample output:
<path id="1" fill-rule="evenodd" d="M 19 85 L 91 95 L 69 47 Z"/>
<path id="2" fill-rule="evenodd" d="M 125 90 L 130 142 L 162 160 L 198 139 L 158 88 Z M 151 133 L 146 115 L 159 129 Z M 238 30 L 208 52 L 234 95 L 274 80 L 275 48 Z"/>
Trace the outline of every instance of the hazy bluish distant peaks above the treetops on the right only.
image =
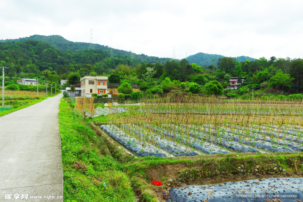
<path id="1" fill-rule="evenodd" d="M 211 65 L 212 63 L 217 64 L 219 58 L 224 57 L 223 55 L 217 55 L 217 54 L 208 54 L 208 53 L 196 53 L 195 55 L 190 55 L 186 59 L 189 61 L 189 63 L 195 63 L 200 66 L 208 66 Z M 255 58 L 251 58 L 248 56 L 237 56 L 235 57 L 238 62 L 244 62 L 245 60 L 257 60 Z M 215 62 L 212 61 L 212 59 L 215 59 Z"/>

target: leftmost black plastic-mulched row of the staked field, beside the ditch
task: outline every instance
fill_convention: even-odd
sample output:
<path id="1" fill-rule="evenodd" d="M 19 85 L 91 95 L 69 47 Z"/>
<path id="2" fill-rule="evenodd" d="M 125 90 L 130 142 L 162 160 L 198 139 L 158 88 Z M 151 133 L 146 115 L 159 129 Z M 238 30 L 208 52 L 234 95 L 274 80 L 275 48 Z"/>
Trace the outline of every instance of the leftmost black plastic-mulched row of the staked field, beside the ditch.
<path id="1" fill-rule="evenodd" d="M 100 128 L 102 128 L 102 130 L 104 130 L 104 132 L 106 132 L 109 136 L 111 136 L 117 142 L 138 156 L 166 157 L 166 154 L 164 152 L 157 152 L 157 150 L 149 144 L 145 144 L 143 146 L 142 142 L 138 141 L 138 139 L 135 139 L 134 137 L 131 137 L 130 135 L 124 133 L 114 125 L 101 125 Z"/>

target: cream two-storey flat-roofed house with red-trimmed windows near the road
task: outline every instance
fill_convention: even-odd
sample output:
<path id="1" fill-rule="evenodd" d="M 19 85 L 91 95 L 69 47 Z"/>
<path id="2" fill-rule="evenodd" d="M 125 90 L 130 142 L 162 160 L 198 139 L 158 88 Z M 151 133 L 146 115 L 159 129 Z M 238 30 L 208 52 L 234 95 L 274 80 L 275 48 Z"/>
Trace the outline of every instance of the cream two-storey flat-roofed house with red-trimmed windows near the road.
<path id="1" fill-rule="evenodd" d="M 107 80 L 108 77 L 103 76 L 92 76 L 92 75 L 81 75 L 81 96 L 90 97 L 92 93 L 98 95 L 108 94 Z"/>

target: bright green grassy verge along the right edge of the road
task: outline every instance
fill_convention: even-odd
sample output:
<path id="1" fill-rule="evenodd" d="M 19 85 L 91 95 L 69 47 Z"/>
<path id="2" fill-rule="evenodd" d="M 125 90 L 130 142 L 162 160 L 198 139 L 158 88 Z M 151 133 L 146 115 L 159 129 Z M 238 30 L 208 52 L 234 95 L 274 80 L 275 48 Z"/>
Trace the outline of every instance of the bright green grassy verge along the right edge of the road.
<path id="1" fill-rule="evenodd" d="M 105 138 L 75 115 L 74 103 L 68 101 L 59 105 L 64 201 L 133 202 L 135 192 L 123 172 L 125 165 L 112 157 Z"/>

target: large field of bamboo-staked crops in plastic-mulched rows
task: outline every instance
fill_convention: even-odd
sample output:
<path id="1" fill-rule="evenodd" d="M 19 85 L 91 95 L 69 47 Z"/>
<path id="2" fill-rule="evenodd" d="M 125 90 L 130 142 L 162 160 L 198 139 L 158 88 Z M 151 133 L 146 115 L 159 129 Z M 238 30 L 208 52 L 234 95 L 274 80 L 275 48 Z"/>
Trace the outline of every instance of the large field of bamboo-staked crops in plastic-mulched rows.
<path id="1" fill-rule="evenodd" d="M 242 101 L 230 107 L 222 100 L 163 99 L 144 100 L 145 105 L 114 113 L 107 122 L 173 156 L 303 151 L 301 102 Z"/>

